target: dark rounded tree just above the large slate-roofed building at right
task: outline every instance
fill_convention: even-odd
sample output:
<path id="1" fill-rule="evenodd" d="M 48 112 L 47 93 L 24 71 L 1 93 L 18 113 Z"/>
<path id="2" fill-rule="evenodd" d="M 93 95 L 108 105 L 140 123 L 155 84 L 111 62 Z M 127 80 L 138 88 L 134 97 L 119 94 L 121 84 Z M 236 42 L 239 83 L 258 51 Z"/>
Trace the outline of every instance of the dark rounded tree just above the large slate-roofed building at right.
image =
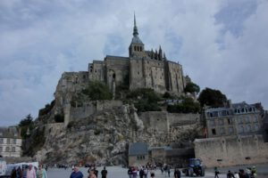
<path id="1" fill-rule="evenodd" d="M 204 105 L 207 105 L 207 106 L 217 108 L 217 107 L 222 107 L 224 105 L 224 102 L 227 101 L 227 98 L 225 94 L 222 94 L 222 92 L 219 90 L 205 88 L 199 94 L 197 100 L 200 102 L 202 107 Z"/>

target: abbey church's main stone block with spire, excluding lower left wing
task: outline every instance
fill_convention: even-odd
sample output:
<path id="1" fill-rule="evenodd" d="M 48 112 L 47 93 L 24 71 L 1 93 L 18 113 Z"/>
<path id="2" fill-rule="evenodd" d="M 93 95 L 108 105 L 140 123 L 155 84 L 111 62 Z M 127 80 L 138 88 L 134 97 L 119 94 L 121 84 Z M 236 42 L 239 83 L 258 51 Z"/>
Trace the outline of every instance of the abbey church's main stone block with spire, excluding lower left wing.
<path id="1" fill-rule="evenodd" d="M 188 81 L 183 77 L 182 66 L 168 61 L 161 46 L 155 52 L 145 50 L 138 37 L 135 15 L 129 57 L 107 55 L 104 61 L 93 61 L 88 65 L 88 77 L 89 81 L 105 82 L 113 93 L 116 86 L 127 83 L 130 90 L 152 88 L 158 93 L 181 94 Z"/>

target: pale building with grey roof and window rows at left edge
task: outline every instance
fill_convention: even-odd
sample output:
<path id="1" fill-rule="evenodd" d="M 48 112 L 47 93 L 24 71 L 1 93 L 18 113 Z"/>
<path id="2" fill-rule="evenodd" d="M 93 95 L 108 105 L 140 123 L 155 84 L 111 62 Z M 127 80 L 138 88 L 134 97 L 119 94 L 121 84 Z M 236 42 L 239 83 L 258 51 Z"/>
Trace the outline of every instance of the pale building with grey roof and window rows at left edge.
<path id="1" fill-rule="evenodd" d="M 0 155 L 2 157 L 21 157 L 21 142 L 18 128 L 0 128 Z"/>

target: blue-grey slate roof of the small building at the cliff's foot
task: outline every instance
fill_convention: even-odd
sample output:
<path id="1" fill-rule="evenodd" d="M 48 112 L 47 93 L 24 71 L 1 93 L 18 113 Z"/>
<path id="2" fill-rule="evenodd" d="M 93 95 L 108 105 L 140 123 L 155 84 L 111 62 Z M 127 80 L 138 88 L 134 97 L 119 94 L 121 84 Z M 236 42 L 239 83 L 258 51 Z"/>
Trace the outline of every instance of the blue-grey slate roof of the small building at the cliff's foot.
<path id="1" fill-rule="evenodd" d="M 129 156 L 147 155 L 148 146 L 146 142 L 130 143 Z"/>

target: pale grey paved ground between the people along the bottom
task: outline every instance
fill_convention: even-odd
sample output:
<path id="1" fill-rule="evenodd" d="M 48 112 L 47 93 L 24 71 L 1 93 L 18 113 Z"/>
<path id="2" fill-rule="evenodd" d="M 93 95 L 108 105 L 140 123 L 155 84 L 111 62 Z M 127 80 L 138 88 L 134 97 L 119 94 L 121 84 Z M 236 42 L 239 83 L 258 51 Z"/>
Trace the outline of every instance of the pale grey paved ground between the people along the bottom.
<path id="1" fill-rule="evenodd" d="M 226 174 L 228 170 L 235 172 L 238 171 L 240 168 L 245 169 L 247 166 L 232 166 L 232 167 L 220 167 L 219 171 L 221 174 L 219 174 L 220 178 L 226 178 Z M 100 172 L 102 171 L 103 167 L 96 167 L 99 176 Z M 268 177 L 268 164 L 263 164 L 263 165 L 257 165 L 256 166 L 257 171 L 258 171 L 258 178 L 264 178 Z M 120 166 L 106 166 L 106 169 L 108 171 L 108 178 L 128 178 L 128 169 L 127 168 L 122 168 Z M 181 169 L 180 169 L 181 170 Z M 80 167 L 80 171 L 84 174 L 84 178 L 88 177 L 88 168 Z M 173 176 L 174 170 L 171 170 L 171 177 Z M 58 169 L 58 168 L 49 168 L 47 170 L 47 177 L 48 178 L 68 178 L 70 177 L 71 174 L 71 168 L 68 169 Z M 167 174 L 162 174 L 159 169 L 155 170 L 155 178 L 167 178 Z M 184 174 L 182 174 L 181 177 L 186 177 Z M 205 170 L 205 177 L 207 178 L 214 178 L 214 169 L 209 168 Z M 139 177 L 138 177 L 139 178 Z M 150 176 L 148 176 L 150 178 Z"/>

